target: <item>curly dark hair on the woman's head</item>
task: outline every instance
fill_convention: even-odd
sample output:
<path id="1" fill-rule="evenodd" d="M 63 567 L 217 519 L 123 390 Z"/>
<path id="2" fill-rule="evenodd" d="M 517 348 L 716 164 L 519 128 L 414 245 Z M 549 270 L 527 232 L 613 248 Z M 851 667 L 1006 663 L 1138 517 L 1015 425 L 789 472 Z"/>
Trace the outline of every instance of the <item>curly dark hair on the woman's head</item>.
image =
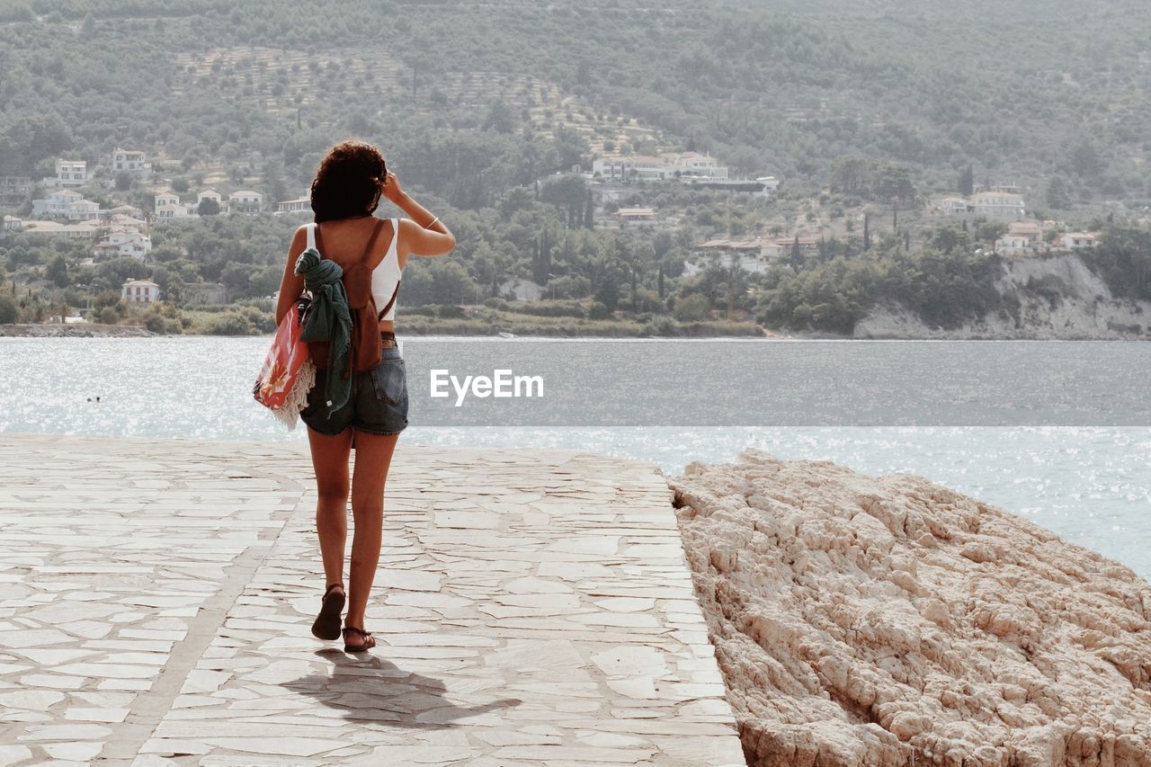
<path id="1" fill-rule="evenodd" d="M 315 222 L 371 215 L 380 204 L 388 167 L 383 154 L 366 142 L 336 144 L 320 161 L 312 181 Z"/>

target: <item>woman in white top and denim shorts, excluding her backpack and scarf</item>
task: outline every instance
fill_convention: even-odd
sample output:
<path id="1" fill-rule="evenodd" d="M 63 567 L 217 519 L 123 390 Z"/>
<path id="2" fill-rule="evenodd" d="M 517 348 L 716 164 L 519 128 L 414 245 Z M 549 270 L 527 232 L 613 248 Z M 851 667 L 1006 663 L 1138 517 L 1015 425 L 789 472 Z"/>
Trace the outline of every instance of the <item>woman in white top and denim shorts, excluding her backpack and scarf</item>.
<path id="1" fill-rule="evenodd" d="M 373 213 L 380 197 L 394 203 L 409 218 L 376 219 Z M 380 151 L 363 142 L 340 144 L 323 158 L 312 182 L 311 198 L 314 230 L 308 231 L 313 225 L 296 230 L 280 283 L 276 322 L 304 290 L 304 278 L 295 271 L 296 259 L 312 236 L 322 258 L 338 264 L 345 278 L 349 267 L 360 260 L 369 267 L 371 291 L 380 310 L 378 321 L 383 348 L 379 365 L 351 374 L 351 395 L 346 404 L 335 411 L 319 401 L 327 371 L 318 371 L 308 405 L 300 413 L 307 425 L 319 491 L 315 526 L 327 590 L 312 633 L 322 639 L 336 639 L 341 635 L 349 457 L 352 447 L 356 448 L 350 484 L 356 533 L 343 637 L 345 651 L 359 652 L 375 646 L 374 637 L 364 629 L 364 612 L 380 561 L 384 481 L 396 440 L 407 425 L 406 380 L 391 319 L 399 278 L 410 256 L 447 255 L 456 246 L 456 238 L 437 217 L 401 189 L 399 179 L 388 172 Z M 360 269 L 360 274 L 364 273 Z"/>

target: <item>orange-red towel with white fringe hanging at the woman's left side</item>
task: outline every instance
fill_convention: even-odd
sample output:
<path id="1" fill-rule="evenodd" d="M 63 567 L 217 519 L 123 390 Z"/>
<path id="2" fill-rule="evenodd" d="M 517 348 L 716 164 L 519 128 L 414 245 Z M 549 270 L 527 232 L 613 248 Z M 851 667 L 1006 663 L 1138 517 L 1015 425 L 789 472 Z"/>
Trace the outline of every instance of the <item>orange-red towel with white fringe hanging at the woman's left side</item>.
<path id="1" fill-rule="evenodd" d="M 252 387 L 256 401 L 288 428 L 296 428 L 299 411 L 307 407 L 307 393 L 315 386 L 315 364 L 307 342 L 300 340 L 308 303 L 302 298 L 284 314 Z"/>

